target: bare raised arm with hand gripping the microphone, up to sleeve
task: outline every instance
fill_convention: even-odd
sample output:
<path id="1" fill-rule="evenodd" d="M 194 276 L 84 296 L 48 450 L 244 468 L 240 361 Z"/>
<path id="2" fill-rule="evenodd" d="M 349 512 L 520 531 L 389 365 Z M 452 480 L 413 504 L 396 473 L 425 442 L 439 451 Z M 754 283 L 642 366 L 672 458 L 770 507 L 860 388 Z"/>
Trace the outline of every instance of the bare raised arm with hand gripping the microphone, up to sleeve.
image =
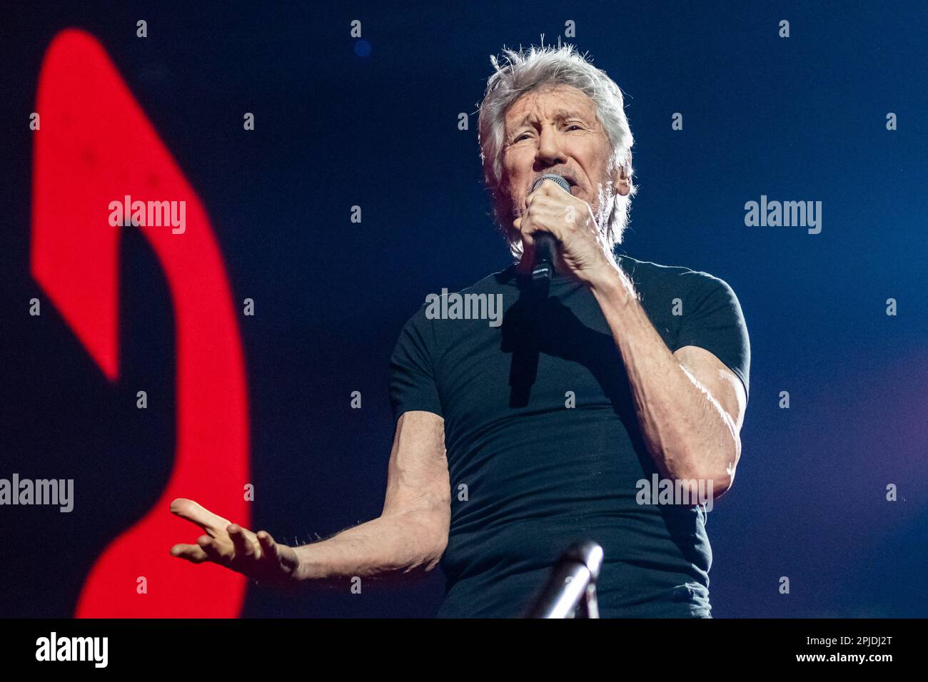
<path id="1" fill-rule="evenodd" d="M 687 346 L 671 354 L 631 281 L 615 263 L 585 201 L 548 181 L 525 205 L 512 225 L 522 233 L 529 257 L 535 233 L 549 232 L 560 242 L 559 267 L 584 282 L 599 302 L 625 363 L 638 423 L 658 469 L 676 480 L 711 480 L 713 495 L 722 495 L 741 457 L 747 403 L 741 380 L 701 348 Z M 697 492 L 693 483 L 688 487 L 690 493 Z"/>

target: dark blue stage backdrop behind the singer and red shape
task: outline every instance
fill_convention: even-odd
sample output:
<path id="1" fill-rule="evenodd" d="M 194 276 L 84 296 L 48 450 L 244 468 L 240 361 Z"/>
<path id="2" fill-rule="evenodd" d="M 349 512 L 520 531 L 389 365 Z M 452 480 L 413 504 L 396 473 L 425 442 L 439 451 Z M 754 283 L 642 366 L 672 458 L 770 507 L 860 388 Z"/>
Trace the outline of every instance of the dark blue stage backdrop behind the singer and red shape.
<path id="1" fill-rule="evenodd" d="M 489 56 L 542 33 L 556 43 L 574 19 L 569 42 L 627 93 L 640 189 L 625 252 L 722 277 L 751 335 L 741 465 L 707 524 L 715 616 L 928 615 L 928 6 L 444 5 L 5 10 L 0 476 L 83 483 L 71 514 L 0 508 L 0 614 L 70 615 L 91 561 L 157 498 L 173 457 L 173 322 L 144 241 L 122 247 L 118 385 L 53 306 L 28 315 L 42 298 L 29 274 L 28 120 L 53 36 L 76 26 L 106 47 L 200 193 L 235 300 L 255 301 L 240 319 L 254 525 L 294 543 L 380 513 L 399 329 L 427 293 L 509 264 L 476 139 Z M 458 131 L 462 111 L 470 130 Z M 677 111 L 683 131 L 671 129 Z M 821 233 L 746 227 L 744 202 L 762 194 L 822 201 Z M 355 390 L 361 410 L 349 408 Z M 252 589 L 245 614 L 431 616 L 443 587 L 436 573 L 360 596 Z"/>

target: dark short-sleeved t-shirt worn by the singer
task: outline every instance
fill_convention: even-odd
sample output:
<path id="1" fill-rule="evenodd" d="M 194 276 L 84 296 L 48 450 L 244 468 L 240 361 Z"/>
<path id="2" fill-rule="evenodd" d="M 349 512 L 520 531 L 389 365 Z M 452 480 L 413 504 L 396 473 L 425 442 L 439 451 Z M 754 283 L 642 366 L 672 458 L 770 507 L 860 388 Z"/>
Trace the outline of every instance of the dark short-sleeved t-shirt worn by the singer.
<path id="1" fill-rule="evenodd" d="M 728 284 L 617 260 L 670 351 L 710 351 L 747 392 L 750 345 Z M 425 410 L 445 419 L 451 528 L 438 615 L 517 617 L 561 552 L 591 539 L 604 550 L 601 617 L 708 617 L 705 509 L 638 504 L 638 482 L 660 474 L 599 303 L 566 276 L 552 279 L 540 304 L 532 291 L 510 266 L 459 292 L 477 296 L 457 310 L 448 296 L 445 318 L 427 299 L 393 351 L 393 417 Z M 491 298 L 504 311 L 496 321 L 450 318 L 465 309 L 493 316 Z"/>

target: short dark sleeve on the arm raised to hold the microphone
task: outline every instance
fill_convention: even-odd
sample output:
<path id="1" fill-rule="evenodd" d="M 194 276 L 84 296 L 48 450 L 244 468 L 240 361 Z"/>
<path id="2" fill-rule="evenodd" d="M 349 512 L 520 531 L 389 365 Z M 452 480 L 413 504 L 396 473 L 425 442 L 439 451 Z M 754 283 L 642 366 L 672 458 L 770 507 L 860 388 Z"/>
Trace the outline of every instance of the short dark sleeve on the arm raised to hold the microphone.
<path id="1" fill-rule="evenodd" d="M 698 277 L 698 285 L 687 297 L 674 351 L 684 346 L 699 346 L 714 354 L 744 384 L 748 395 L 751 374 L 751 341 L 741 313 L 741 302 L 728 283 L 706 273 L 688 273 Z"/>

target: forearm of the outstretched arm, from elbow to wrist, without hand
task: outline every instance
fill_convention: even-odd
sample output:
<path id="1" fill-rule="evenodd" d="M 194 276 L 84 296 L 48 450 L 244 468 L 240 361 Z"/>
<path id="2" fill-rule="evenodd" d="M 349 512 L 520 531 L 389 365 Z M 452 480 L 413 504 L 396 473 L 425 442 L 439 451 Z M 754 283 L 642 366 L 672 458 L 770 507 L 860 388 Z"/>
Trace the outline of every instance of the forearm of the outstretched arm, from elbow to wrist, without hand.
<path id="1" fill-rule="evenodd" d="M 301 583 L 347 585 L 354 576 L 405 580 L 432 571 L 445 546 L 422 512 L 385 514 L 327 540 L 294 547 Z"/>

